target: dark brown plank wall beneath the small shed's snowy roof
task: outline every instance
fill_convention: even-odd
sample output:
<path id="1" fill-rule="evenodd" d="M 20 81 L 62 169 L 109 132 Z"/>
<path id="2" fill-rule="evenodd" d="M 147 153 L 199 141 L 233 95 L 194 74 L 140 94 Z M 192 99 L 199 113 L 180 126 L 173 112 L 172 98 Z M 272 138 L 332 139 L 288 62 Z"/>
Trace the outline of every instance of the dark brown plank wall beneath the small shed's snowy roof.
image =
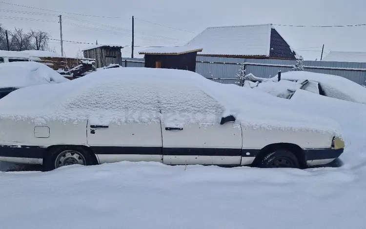
<path id="1" fill-rule="evenodd" d="M 145 67 L 155 68 L 156 61 L 162 63 L 162 68 L 196 71 L 197 52 L 182 55 L 145 55 Z"/>

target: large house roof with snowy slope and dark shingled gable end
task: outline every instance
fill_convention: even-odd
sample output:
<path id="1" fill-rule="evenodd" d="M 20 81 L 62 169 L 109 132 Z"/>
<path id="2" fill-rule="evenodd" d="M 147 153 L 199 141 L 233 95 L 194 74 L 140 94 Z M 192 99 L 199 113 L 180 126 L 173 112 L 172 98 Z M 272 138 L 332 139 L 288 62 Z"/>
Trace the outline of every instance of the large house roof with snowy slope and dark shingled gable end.
<path id="1" fill-rule="evenodd" d="M 202 47 L 199 55 L 296 59 L 272 24 L 208 27 L 187 45 Z"/>

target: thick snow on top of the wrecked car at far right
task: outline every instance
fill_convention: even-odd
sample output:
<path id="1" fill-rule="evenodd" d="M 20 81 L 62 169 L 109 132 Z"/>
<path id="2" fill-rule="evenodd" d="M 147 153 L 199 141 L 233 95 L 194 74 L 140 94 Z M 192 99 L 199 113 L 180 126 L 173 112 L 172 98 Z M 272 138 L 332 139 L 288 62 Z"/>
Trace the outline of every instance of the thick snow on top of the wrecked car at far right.
<path id="1" fill-rule="evenodd" d="M 274 79 L 276 78 L 278 78 L 278 76 L 274 77 Z M 307 79 L 318 82 L 326 96 L 366 104 L 366 88 L 342 76 L 292 71 L 281 74 L 281 79 Z"/>

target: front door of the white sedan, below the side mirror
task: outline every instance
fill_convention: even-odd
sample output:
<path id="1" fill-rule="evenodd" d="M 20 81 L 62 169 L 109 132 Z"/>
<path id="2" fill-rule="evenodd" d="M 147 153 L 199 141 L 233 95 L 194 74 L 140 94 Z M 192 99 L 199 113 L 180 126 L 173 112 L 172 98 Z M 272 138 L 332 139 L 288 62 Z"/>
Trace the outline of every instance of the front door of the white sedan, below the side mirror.
<path id="1" fill-rule="evenodd" d="M 199 88 L 181 85 L 179 96 L 161 98 L 163 163 L 240 165 L 240 124 L 220 124 L 224 109 Z"/>

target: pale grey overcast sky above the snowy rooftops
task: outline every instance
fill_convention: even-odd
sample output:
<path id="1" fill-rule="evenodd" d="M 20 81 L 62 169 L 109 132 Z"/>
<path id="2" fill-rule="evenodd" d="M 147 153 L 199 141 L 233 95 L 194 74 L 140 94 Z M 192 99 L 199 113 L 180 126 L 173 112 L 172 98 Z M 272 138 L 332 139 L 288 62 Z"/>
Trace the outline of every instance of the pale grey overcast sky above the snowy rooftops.
<path id="1" fill-rule="evenodd" d="M 48 31 L 52 38 L 59 39 L 60 30 L 57 15 L 61 14 L 64 21 L 64 40 L 95 43 L 98 39 L 98 42 L 102 44 L 130 45 L 132 16 L 136 18 L 135 45 L 140 46 L 182 45 L 208 26 L 262 23 L 292 25 L 346 25 L 366 23 L 365 0 L 350 0 L 347 3 L 346 0 L 1 1 L 67 13 L 116 17 L 115 19 L 85 17 L 0 3 L 0 23 L 8 29 L 14 27 L 21 27 L 24 30 L 30 28 L 41 29 Z M 50 15 L 35 15 L 14 11 L 38 12 Z M 34 19 L 41 20 L 35 21 Z M 190 32 L 170 29 L 142 20 Z M 91 21 L 93 23 L 85 21 Z M 108 27 L 95 23 L 108 25 Z M 285 40 L 299 54 L 303 55 L 305 59 L 320 59 L 321 46 L 323 44 L 325 44 L 325 55 L 330 50 L 366 52 L 366 26 L 347 28 L 275 27 Z M 51 42 L 51 49 L 55 49 L 60 53 L 60 44 L 56 43 L 58 41 L 52 40 Z M 82 49 L 87 46 L 87 44 L 65 42 L 64 52 L 66 56 L 75 57 L 78 48 Z M 141 48 L 135 50 L 136 54 L 138 50 L 141 50 Z M 131 56 L 130 52 L 131 49 L 126 48 L 122 50 L 122 56 Z"/>

